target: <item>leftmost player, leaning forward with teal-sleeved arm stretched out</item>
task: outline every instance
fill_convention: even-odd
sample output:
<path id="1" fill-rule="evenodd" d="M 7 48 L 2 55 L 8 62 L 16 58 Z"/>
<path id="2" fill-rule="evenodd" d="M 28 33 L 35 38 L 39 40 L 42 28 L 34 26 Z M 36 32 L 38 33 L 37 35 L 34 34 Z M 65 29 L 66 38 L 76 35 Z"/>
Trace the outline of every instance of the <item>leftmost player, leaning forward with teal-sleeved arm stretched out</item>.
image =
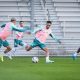
<path id="1" fill-rule="evenodd" d="M 16 27 L 16 19 L 12 18 L 10 22 L 6 23 L 5 25 L 3 25 L 3 30 L 0 32 L 0 47 L 4 46 L 6 49 L 4 51 L 4 53 L 8 53 L 9 51 L 12 51 L 14 49 L 12 49 L 8 43 L 8 41 L 6 40 L 13 31 L 19 31 L 19 32 L 24 32 L 26 31 L 26 28 L 18 28 Z"/>

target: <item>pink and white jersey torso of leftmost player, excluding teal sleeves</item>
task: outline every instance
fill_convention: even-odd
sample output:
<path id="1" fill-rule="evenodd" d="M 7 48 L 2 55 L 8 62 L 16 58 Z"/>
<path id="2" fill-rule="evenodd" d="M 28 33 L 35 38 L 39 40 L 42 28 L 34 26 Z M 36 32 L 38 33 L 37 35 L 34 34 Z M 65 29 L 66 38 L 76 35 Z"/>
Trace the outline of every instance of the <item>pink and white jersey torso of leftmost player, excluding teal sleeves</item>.
<path id="1" fill-rule="evenodd" d="M 6 38 L 12 33 L 12 29 L 10 28 L 11 22 L 7 23 L 2 32 L 0 32 L 0 38 L 2 40 L 6 40 Z"/>

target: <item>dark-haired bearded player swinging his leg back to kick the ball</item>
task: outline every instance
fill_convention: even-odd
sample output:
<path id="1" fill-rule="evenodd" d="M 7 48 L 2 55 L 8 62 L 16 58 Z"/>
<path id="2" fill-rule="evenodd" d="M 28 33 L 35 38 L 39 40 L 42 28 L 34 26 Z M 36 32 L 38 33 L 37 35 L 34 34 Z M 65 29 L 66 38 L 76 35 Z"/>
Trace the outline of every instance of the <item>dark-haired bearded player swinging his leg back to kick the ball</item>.
<path id="1" fill-rule="evenodd" d="M 51 21 L 47 21 L 45 27 L 41 27 L 39 29 L 35 29 L 33 33 L 35 33 L 35 39 L 31 43 L 31 45 L 26 46 L 26 50 L 30 51 L 32 48 L 39 46 L 43 51 L 46 53 L 46 63 L 52 63 L 54 61 L 51 61 L 49 59 L 49 50 L 45 45 L 46 39 L 50 35 L 53 39 L 55 39 L 57 42 L 61 43 L 59 39 L 57 39 L 51 31 Z"/>

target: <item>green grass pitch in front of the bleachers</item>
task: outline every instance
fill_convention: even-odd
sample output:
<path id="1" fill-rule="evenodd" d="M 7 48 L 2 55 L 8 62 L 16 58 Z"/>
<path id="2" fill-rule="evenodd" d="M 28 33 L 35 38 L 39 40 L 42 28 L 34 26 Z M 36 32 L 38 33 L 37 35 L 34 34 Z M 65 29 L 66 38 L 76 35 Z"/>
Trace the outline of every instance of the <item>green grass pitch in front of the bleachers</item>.
<path id="1" fill-rule="evenodd" d="M 46 64 L 45 58 L 32 63 L 30 57 L 4 57 L 0 62 L 0 80 L 80 80 L 80 58 L 51 58 L 55 63 Z"/>

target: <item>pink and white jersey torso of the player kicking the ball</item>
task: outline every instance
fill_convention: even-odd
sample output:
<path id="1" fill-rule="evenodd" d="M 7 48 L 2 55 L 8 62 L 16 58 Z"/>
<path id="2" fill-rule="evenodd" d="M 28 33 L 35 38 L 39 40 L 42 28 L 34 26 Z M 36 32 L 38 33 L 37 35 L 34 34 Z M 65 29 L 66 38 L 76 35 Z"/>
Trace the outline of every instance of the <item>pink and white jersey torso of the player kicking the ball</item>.
<path id="1" fill-rule="evenodd" d="M 51 32 L 52 32 L 51 29 L 43 28 L 42 30 L 36 33 L 35 37 L 41 43 L 45 43 L 46 39 L 48 38 L 49 34 L 51 34 Z"/>

